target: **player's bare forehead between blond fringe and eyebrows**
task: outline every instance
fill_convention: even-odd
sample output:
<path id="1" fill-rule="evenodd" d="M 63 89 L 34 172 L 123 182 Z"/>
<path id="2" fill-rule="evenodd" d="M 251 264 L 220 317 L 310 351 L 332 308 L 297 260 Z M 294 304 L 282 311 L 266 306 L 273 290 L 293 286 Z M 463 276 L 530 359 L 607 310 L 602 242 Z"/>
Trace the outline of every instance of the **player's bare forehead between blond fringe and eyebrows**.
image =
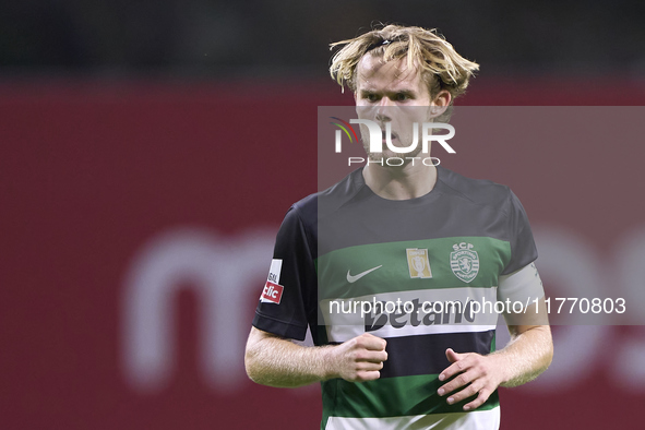
<path id="1" fill-rule="evenodd" d="M 408 68 L 405 58 L 383 61 L 382 57 L 366 55 L 356 69 L 356 89 L 368 92 L 426 91 L 419 69 Z"/>

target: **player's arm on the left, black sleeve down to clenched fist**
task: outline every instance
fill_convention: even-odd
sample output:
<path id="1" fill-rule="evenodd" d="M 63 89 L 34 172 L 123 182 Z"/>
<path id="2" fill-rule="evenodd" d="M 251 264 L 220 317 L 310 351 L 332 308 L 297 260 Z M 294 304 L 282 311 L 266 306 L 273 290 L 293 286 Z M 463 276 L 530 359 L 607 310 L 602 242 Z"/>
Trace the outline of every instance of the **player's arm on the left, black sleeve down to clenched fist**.
<path id="1" fill-rule="evenodd" d="M 367 333 L 339 345 L 301 346 L 290 341 L 304 339 L 312 324 L 308 315 L 319 301 L 316 202 L 306 199 L 291 206 L 276 237 L 244 354 L 247 374 L 259 384 L 295 387 L 334 378 L 370 381 L 380 377 L 387 359 L 385 341 Z"/>

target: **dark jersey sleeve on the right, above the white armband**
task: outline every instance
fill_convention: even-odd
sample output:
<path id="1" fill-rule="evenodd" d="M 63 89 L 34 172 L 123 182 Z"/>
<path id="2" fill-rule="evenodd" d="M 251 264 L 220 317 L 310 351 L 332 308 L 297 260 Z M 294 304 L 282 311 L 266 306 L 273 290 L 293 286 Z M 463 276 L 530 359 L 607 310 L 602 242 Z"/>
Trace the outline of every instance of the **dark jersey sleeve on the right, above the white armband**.
<path id="1" fill-rule="evenodd" d="M 537 259 L 537 248 L 526 212 L 519 203 L 519 199 L 512 191 L 509 192 L 506 214 L 509 216 L 507 234 L 511 242 L 511 259 L 501 275 L 516 272 Z"/>

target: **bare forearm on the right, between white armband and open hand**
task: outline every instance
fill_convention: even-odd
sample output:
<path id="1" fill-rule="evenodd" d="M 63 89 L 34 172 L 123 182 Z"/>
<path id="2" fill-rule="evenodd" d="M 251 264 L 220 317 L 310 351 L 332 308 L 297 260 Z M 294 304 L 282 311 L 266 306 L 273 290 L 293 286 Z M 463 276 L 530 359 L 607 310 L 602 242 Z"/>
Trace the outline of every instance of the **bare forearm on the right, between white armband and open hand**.
<path id="1" fill-rule="evenodd" d="M 517 386 L 533 381 L 547 370 L 553 358 L 551 329 L 539 325 L 527 330 L 493 355 L 505 370 L 501 386 Z"/>

